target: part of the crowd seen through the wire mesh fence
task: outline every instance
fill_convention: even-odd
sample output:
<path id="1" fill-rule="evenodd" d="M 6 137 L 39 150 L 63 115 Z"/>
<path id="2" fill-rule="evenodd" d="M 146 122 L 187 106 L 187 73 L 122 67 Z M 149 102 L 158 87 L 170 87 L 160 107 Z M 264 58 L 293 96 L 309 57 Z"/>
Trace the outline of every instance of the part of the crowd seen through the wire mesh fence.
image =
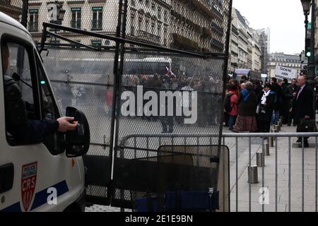
<path id="1" fill-rule="evenodd" d="M 213 76 L 185 76 L 185 75 L 154 75 L 154 76 L 143 76 L 143 75 L 134 75 L 134 76 L 124 76 L 122 79 L 122 92 L 125 90 L 132 91 L 137 95 L 137 86 L 143 86 L 143 94 L 147 91 L 154 91 L 159 93 L 160 91 L 179 91 L 183 93 L 184 91 L 189 91 L 188 95 L 189 100 L 182 98 L 182 107 L 192 108 L 192 98 L 191 92 L 197 92 L 197 121 L 195 126 L 199 127 L 208 127 L 213 125 L 218 125 L 220 121 L 220 108 L 215 107 L 215 103 L 222 102 L 222 93 L 223 93 L 223 80 L 213 78 Z M 112 90 L 109 90 L 108 93 L 112 93 Z M 106 103 L 108 109 L 112 107 L 112 95 L 108 95 L 106 98 Z M 149 100 L 143 100 L 143 105 Z M 176 100 L 174 100 L 176 101 Z M 122 101 L 124 102 L 124 101 Z M 159 104 L 159 103 L 158 103 Z M 140 106 L 137 106 L 135 102 L 135 117 L 139 117 L 144 109 Z M 178 105 L 174 103 L 173 106 Z M 158 106 L 160 109 L 160 106 Z M 167 107 L 166 107 L 167 109 Z M 107 111 L 110 114 L 110 111 Z M 143 120 L 148 121 L 160 121 L 160 124 L 163 128 L 163 133 L 172 133 L 174 131 L 175 124 L 181 126 L 184 125 L 184 115 L 177 116 L 174 112 L 174 116 L 150 116 L 146 117 L 144 114 L 142 117 L 139 117 Z"/>

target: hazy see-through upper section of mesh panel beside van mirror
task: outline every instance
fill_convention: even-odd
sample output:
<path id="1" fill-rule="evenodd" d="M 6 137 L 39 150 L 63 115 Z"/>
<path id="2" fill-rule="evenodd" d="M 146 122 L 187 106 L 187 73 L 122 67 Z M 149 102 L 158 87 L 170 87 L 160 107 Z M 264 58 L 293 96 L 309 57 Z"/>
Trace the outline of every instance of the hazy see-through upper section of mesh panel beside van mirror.
<path id="1" fill-rule="evenodd" d="M 47 75 L 62 111 L 68 106 L 85 112 L 92 143 L 110 144 L 114 52 L 49 49 L 43 52 Z M 88 66 L 89 65 L 89 66 Z"/>

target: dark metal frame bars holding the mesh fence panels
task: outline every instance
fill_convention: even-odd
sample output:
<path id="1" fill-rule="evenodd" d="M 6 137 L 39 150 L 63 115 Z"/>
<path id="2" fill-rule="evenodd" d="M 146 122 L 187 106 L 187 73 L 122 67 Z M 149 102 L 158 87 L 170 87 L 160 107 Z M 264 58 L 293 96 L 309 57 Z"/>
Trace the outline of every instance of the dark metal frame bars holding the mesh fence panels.
<path id="1" fill-rule="evenodd" d="M 158 51 L 160 53 L 174 53 L 174 54 L 180 54 L 184 57 L 196 57 L 199 59 L 221 59 L 223 61 L 223 93 L 222 97 L 224 98 L 225 96 L 225 81 L 226 81 L 226 76 L 228 75 L 227 69 L 228 69 L 228 57 L 229 57 L 229 44 L 230 44 L 230 26 L 231 26 L 231 11 L 232 11 L 232 0 L 229 1 L 229 13 L 227 16 L 225 16 L 228 19 L 228 30 L 225 35 L 225 49 L 224 52 L 222 53 L 211 53 L 211 52 L 187 52 L 187 51 L 182 51 L 178 49 L 170 49 L 166 47 L 160 47 L 159 45 L 154 45 L 154 44 L 147 44 L 144 42 L 136 42 L 134 40 L 128 40 L 126 39 L 126 23 L 121 23 L 122 21 L 126 21 L 127 17 L 127 4 L 128 0 L 120 0 L 119 1 L 119 13 L 118 13 L 118 20 L 117 20 L 117 32 L 115 36 L 111 35 L 102 35 L 97 32 L 88 32 L 86 30 L 79 30 L 76 28 L 67 28 L 61 25 L 57 24 L 52 24 L 52 23 L 43 23 L 43 32 L 42 32 L 42 40 L 40 44 L 40 52 L 45 50 L 46 47 L 49 46 L 63 46 L 67 47 L 67 45 L 63 44 L 51 44 L 47 43 L 47 37 L 57 37 L 58 39 L 64 40 L 66 42 L 70 42 L 73 45 L 76 45 L 78 47 L 84 47 L 87 49 L 91 49 L 93 51 L 102 51 L 102 49 L 98 47 L 90 47 L 85 44 L 81 44 L 79 42 L 75 42 L 73 40 L 68 39 L 67 37 L 63 37 L 57 32 L 51 32 L 47 28 L 52 28 L 53 30 L 64 30 L 67 32 L 75 32 L 81 35 L 88 35 L 91 37 L 98 37 L 106 40 L 112 40 L 115 42 L 115 46 L 113 47 L 112 51 L 115 53 L 114 55 L 114 89 L 113 89 L 113 105 L 112 105 L 112 119 L 111 119 L 111 129 L 110 129 L 110 141 L 109 145 L 105 145 L 104 143 L 99 143 L 99 144 L 94 144 L 98 145 L 102 148 L 105 148 L 108 146 L 110 148 L 110 159 L 113 160 L 112 164 L 105 166 L 107 167 L 107 172 L 110 172 L 110 175 L 106 175 L 107 177 L 110 177 L 110 182 L 112 182 L 112 175 L 113 175 L 113 165 L 114 161 L 116 161 L 117 158 L 117 152 L 119 152 L 119 120 L 117 119 L 116 115 L 116 110 L 120 109 L 120 85 L 122 83 L 122 74 L 123 74 L 123 69 L 124 69 L 124 57 L 126 54 L 126 44 L 136 44 L 139 47 L 143 48 L 151 48 L 154 49 L 155 51 Z M 28 6 L 26 6 L 28 7 Z M 123 9 L 123 11 L 122 11 Z M 26 11 L 28 13 L 28 11 Z M 123 12 L 123 13 L 122 13 Z M 123 18 L 122 18 L 123 17 Z M 120 60 L 119 60 L 120 59 Z M 220 111 L 220 119 L 219 125 L 218 125 L 218 135 L 216 136 L 218 138 L 218 145 L 221 145 L 222 140 L 221 140 L 221 133 L 223 131 L 223 112 Z M 107 189 L 107 198 L 110 198 L 112 196 L 112 184 L 110 184 L 111 189 Z M 106 202 L 107 203 L 107 202 Z"/>

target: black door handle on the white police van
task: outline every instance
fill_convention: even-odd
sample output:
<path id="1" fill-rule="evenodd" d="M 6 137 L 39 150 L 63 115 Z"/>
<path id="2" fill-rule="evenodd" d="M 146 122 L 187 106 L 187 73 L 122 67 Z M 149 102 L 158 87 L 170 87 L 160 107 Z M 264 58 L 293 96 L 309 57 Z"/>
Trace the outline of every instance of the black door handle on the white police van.
<path id="1" fill-rule="evenodd" d="M 12 163 L 0 166 L 0 194 L 13 187 L 14 167 Z"/>

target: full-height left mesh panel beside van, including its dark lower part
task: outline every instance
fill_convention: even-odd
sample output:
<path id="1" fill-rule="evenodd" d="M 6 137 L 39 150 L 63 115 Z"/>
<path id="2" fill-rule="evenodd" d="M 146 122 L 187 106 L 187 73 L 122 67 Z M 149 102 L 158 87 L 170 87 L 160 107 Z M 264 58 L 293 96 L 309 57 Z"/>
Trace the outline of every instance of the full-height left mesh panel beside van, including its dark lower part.
<path id="1" fill-rule="evenodd" d="M 112 165 L 114 52 L 50 47 L 47 52 L 42 52 L 42 58 L 62 114 L 66 107 L 76 107 L 85 112 L 90 124 L 90 150 L 84 157 L 90 174 L 86 177 L 86 194 L 107 197 Z"/>

